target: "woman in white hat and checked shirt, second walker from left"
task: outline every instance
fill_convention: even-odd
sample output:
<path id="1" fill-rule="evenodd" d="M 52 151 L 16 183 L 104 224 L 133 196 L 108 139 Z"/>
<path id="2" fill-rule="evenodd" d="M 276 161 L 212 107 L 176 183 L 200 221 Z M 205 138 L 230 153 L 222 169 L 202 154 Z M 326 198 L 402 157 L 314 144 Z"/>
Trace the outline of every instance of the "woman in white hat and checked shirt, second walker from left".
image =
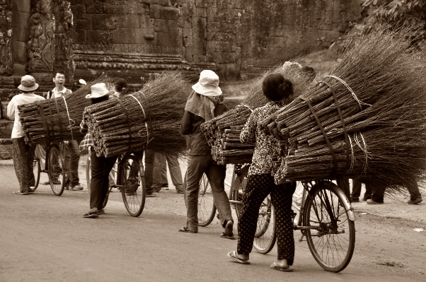
<path id="1" fill-rule="evenodd" d="M 91 93 L 86 95 L 87 99 L 91 99 L 92 105 L 98 102 L 103 102 L 108 100 L 108 97 L 113 92 L 108 90 L 105 83 L 96 83 L 91 86 Z M 87 133 L 88 127 L 86 120 L 83 117 L 80 124 L 81 133 Z M 84 150 L 89 146 L 93 146 L 93 141 L 90 134 L 84 136 L 83 141 L 80 143 L 80 150 Z M 105 201 L 105 196 L 108 192 L 110 171 L 117 160 L 117 155 L 114 155 L 109 158 L 105 156 L 98 157 L 96 152 L 91 148 L 91 187 L 90 187 L 90 208 L 87 213 L 84 213 L 83 217 L 85 218 L 97 218 L 100 214 L 105 213 L 103 211 L 102 205 Z"/>

